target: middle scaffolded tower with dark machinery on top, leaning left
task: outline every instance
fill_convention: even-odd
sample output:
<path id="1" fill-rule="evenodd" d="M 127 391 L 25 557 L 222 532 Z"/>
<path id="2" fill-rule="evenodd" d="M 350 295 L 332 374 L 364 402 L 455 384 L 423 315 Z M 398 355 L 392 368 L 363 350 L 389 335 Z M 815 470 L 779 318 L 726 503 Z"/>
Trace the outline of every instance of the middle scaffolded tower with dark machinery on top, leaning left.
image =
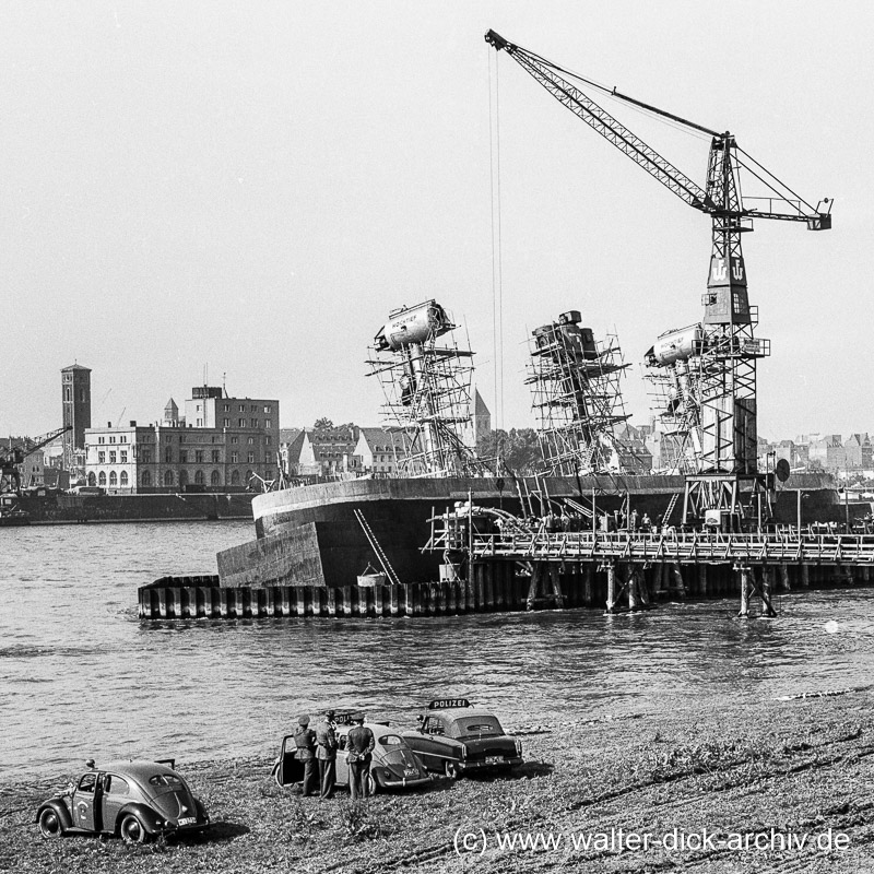
<path id="1" fill-rule="evenodd" d="M 621 472 L 631 458 L 616 429 L 628 420 L 619 380 L 629 365 L 615 334 L 597 341 L 580 320 L 577 310 L 564 312 L 529 341 L 525 383 L 553 475 Z"/>

